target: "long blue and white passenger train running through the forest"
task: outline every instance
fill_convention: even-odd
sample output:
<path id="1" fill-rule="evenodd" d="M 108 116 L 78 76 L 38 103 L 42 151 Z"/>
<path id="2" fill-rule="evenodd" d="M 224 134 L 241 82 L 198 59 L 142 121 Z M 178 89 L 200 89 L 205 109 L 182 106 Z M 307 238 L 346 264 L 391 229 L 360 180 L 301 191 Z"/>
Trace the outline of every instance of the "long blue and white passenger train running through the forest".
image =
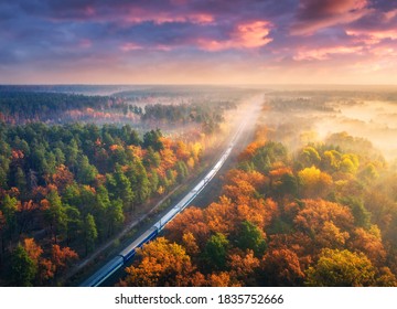
<path id="1" fill-rule="evenodd" d="M 197 185 L 195 185 L 175 206 L 173 206 L 168 213 L 165 213 L 157 223 L 135 239 L 129 246 L 121 251 L 116 257 L 105 264 L 98 271 L 85 280 L 81 287 L 98 287 L 114 273 L 121 268 L 128 260 L 130 260 L 137 253 L 137 248 L 142 247 L 144 244 L 152 241 L 164 226 L 172 221 L 172 219 L 181 213 L 193 200 L 200 194 L 200 192 L 207 185 L 207 183 L 219 171 L 226 159 L 229 157 L 235 142 L 240 135 L 245 122 L 240 125 L 239 129 L 235 134 L 228 148 L 223 152 L 219 160 L 213 167 L 213 169 L 202 179 Z"/>

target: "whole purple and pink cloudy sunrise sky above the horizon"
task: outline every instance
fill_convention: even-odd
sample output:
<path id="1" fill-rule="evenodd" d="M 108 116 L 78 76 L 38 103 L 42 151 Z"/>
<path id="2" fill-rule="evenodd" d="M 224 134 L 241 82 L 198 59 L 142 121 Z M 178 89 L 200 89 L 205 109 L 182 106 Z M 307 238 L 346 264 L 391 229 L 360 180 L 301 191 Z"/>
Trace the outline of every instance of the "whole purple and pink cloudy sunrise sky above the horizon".
<path id="1" fill-rule="evenodd" d="M 0 84 L 397 84 L 397 0 L 1 0 Z"/>

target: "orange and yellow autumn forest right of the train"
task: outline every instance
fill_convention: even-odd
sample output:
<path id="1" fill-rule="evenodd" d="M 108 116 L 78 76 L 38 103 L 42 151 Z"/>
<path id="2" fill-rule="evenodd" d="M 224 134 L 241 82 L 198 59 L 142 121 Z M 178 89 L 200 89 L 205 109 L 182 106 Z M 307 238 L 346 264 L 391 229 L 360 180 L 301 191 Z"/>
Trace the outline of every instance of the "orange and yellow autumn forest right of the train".
<path id="1" fill-rule="evenodd" d="M 365 137 L 318 137 L 343 113 L 330 97 L 268 95 L 222 194 L 178 215 L 118 286 L 397 286 L 396 167 Z"/>

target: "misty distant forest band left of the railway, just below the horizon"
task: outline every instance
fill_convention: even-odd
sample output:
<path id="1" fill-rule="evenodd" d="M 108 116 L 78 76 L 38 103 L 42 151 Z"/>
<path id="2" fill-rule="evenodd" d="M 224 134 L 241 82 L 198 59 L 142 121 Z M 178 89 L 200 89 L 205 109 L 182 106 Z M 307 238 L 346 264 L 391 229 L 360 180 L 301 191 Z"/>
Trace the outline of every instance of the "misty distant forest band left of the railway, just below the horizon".
<path id="1" fill-rule="evenodd" d="M 23 90 L 22 90 L 23 89 Z M 75 93 L 42 92 L 43 87 L 21 88 L 0 86 L 0 121 L 9 125 L 30 122 L 74 124 L 93 122 L 97 125 L 132 125 L 137 129 L 175 126 L 203 129 L 213 134 L 225 120 L 224 113 L 237 107 L 238 96 L 230 94 L 192 93 L 175 89 L 167 92 L 118 92 L 107 96 Z M 66 88 L 67 89 L 67 88 Z M 76 90 L 81 89 L 79 87 Z M 101 87 L 99 87 L 101 89 Z M 97 92 L 99 92 L 97 89 Z M 85 93 L 90 93 L 90 88 Z M 217 108 L 214 108 L 216 105 Z"/>

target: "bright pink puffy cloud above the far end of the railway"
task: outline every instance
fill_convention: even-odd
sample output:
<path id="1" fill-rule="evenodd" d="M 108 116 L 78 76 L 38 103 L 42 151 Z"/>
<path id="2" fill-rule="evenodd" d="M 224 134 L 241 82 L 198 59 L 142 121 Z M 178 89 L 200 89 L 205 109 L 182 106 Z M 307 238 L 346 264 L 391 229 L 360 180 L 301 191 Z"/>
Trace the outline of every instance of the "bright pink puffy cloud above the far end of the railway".
<path id="1" fill-rule="evenodd" d="M 272 41 L 268 38 L 271 24 L 267 21 L 254 21 L 238 24 L 228 40 L 197 40 L 203 50 L 216 52 L 228 49 L 255 49 L 264 46 Z"/>

